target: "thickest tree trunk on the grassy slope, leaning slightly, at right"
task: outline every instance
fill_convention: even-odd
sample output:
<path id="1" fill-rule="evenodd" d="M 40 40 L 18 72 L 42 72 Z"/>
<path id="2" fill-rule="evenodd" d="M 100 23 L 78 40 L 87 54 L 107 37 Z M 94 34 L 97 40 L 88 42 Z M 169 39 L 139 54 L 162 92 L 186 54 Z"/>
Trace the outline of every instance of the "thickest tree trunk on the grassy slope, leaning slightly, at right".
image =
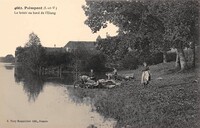
<path id="1" fill-rule="evenodd" d="M 180 59 L 181 70 L 185 70 L 187 68 L 187 62 L 185 59 L 185 54 L 182 48 L 177 48 L 178 56 Z"/>

